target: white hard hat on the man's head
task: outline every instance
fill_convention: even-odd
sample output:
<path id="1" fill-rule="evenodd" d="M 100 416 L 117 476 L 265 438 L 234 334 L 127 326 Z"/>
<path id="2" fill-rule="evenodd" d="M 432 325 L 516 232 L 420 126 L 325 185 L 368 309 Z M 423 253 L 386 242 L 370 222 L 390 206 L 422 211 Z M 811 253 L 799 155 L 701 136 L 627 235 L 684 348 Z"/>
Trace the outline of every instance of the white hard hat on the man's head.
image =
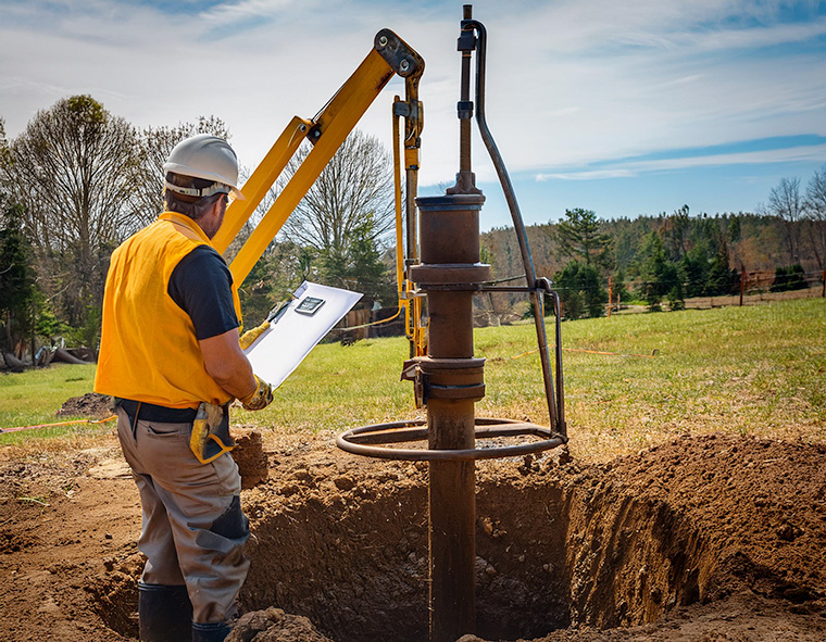
<path id="1" fill-rule="evenodd" d="M 190 197 L 233 192 L 236 198 L 243 198 L 238 189 L 238 158 L 229 143 L 217 136 L 199 134 L 185 138 L 170 152 L 170 158 L 163 164 L 163 171 L 164 174 L 174 172 L 215 182 L 210 187 L 198 189 L 179 187 L 167 180 L 166 189 L 168 190 Z"/>

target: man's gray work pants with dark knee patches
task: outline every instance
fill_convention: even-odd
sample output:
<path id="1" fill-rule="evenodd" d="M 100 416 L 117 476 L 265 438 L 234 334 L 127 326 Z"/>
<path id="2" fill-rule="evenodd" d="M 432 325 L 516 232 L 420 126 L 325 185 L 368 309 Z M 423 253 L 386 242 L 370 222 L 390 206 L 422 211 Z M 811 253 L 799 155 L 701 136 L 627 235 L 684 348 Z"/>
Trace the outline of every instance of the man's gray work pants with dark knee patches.
<path id="1" fill-rule="evenodd" d="M 186 584 L 192 620 L 218 622 L 235 615 L 249 561 L 249 521 L 241 511 L 241 479 L 229 454 L 201 464 L 189 450 L 191 424 L 136 426 L 117 408 L 117 437 L 140 492 L 143 524 L 138 549 L 147 556 L 141 581 Z"/>

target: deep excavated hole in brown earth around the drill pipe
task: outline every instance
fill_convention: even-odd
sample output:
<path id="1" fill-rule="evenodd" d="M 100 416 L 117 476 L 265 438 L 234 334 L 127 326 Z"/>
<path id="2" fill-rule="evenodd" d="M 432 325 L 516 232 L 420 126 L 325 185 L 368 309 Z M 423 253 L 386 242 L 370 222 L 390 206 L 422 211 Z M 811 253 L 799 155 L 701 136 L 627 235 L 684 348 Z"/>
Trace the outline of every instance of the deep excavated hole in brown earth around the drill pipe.
<path id="1" fill-rule="evenodd" d="M 255 489 L 242 610 L 303 615 L 335 642 L 426 641 L 426 475 L 397 469 L 358 480 L 311 469 Z M 483 475 L 477 487 L 481 638 L 647 624 L 703 597 L 714 559 L 664 503 L 541 475 Z M 107 625 L 130 637 L 137 575 L 93 591 Z"/>

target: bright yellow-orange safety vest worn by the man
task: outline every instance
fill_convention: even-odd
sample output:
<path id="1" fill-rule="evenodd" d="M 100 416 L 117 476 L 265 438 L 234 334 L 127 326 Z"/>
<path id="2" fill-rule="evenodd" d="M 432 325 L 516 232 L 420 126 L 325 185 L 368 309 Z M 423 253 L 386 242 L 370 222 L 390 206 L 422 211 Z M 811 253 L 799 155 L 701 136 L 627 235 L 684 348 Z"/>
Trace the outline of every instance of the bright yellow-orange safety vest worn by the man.
<path id="1" fill-rule="evenodd" d="M 112 254 L 95 391 L 168 407 L 224 404 L 230 395 L 206 373 L 195 326 L 168 293 L 172 273 L 199 246 L 200 226 L 164 212 Z M 235 284 L 233 303 L 240 323 Z"/>

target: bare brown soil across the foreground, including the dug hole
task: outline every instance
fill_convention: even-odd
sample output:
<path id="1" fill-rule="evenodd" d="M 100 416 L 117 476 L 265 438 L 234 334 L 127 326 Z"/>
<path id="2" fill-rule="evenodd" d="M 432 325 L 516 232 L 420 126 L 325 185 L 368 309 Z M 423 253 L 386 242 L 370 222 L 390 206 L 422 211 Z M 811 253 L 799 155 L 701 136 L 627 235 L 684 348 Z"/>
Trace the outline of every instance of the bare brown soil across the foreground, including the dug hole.
<path id="1" fill-rule="evenodd" d="M 426 466 L 329 435 L 267 432 L 264 451 L 230 640 L 426 640 Z M 12 452 L 0 639 L 134 640 L 139 503 L 114 437 Z M 477 479 L 479 639 L 826 640 L 824 445 L 685 437 L 605 465 L 480 463 Z"/>

